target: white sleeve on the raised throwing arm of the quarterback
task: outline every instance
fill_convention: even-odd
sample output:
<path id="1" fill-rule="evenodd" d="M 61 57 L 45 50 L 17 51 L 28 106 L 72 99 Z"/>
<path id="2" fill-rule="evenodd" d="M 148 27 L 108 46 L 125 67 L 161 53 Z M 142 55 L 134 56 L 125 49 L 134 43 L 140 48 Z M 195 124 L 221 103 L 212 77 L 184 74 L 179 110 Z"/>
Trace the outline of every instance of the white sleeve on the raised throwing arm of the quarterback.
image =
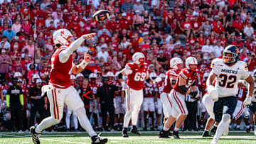
<path id="1" fill-rule="evenodd" d="M 85 38 L 83 38 L 83 36 L 81 36 L 80 38 L 78 38 L 77 40 L 75 40 L 73 43 L 71 43 L 71 45 L 66 48 L 65 50 L 60 52 L 59 58 L 60 58 L 60 62 L 65 63 L 67 62 L 68 58 L 70 57 L 70 55 L 76 50 L 78 49 L 78 47 L 85 41 Z"/>

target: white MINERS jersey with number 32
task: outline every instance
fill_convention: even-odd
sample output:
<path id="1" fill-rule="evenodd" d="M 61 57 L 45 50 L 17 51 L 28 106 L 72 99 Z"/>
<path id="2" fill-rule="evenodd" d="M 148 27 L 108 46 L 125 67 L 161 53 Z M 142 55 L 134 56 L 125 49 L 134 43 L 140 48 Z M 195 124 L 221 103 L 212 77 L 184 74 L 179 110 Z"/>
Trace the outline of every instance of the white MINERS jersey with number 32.
<path id="1" fill-rule="evenodd" d="M 243 61 L 238 61 L 230 67 L 222 59 L 216 58 L 212 61 L 210 67 L 212 72 L 217 74 L 215 89 L 218 91 L 219 97 L 235 96 L 238 94 L 239 79 L 247 79 L 250 76 L 248 67 Z"/>

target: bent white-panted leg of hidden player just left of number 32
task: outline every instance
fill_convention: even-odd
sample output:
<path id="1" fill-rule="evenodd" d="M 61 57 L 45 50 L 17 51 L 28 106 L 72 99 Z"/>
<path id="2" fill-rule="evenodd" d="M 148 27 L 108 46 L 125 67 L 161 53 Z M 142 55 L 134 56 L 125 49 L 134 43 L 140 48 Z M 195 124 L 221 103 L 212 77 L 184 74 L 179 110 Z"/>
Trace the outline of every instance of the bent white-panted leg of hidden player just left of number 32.
<path id="1" fill-rule="evenodd" d="M 213 100 L 210 99 L 210 97 L 207 94 L 203 96 L 202 102 L 203 102 L 203 105 L 206 107 L 206 111 L 208 115 L 210 116 L 206 122 L 206 128 L 203 132 L 203 137 L 208 137 L 208 136 L 211 136 L 209 133 L 210 127 L 213 126 L 213 123 L 215 122 L 214 113 L 213 113 L 214 103 L 213 103 Z"/>

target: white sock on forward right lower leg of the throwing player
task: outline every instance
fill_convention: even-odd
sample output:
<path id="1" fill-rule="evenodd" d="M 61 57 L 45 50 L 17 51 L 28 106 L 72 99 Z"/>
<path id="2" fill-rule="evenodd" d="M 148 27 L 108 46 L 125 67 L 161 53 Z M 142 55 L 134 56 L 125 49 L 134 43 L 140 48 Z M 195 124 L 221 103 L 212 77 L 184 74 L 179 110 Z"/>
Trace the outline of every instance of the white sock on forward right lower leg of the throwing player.
<path id="1" fill-rule="evenodd" d="M 87 131 L 87 133 L 89 133 L 90 137 L 97 135 L 95 131 L 92 129 L 92 125 L 90 124 L 90 121 L 86 116 L 85 108 L 80 107 L 75 111 L 75 113 L 78 114 L 80 125 L 82 126 L 82 128 L 85 129 L 85 131 Z"/>

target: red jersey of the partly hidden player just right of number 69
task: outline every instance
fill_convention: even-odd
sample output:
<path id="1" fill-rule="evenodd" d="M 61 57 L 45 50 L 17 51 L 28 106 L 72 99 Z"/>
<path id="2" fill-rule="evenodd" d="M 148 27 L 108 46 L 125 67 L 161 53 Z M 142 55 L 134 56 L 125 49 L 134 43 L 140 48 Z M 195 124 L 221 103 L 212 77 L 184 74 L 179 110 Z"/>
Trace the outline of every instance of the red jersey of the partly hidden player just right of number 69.
<path id="1" fill-rule="evenodd" d="M 164 90 L 163 92 L 166 92 L 167 94 L 169 94 L 171 92 L 171 79 L 170 77 L 178 77 L 178 70 L 176 69 L 171 69 L 169 71 L 166 72 L 166 78 L 164 80 Z"/>

